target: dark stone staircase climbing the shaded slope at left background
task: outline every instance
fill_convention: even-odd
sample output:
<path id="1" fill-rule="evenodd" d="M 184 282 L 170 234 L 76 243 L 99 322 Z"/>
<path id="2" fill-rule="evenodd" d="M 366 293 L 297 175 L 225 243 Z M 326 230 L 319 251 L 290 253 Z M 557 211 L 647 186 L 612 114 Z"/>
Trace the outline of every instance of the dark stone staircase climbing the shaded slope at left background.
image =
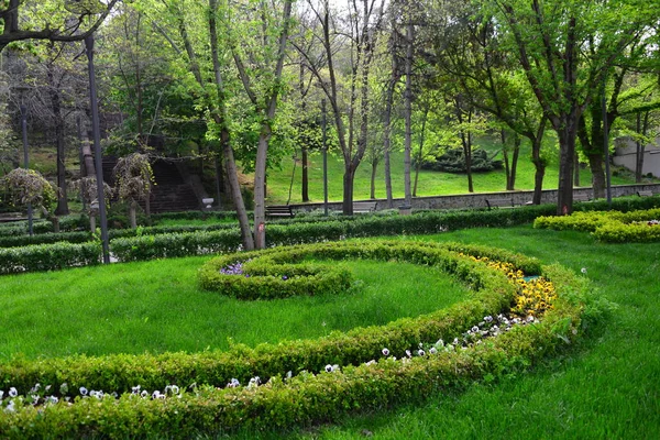
<path id="1" fill-rule="evenodd" d="M 114 185 L 112 169 L 117 164 L 116 157 L 103 157 L 103 179 Z M 200 209 L 195 191 L 182 177 L 175 164 L 157 160 L 152 164 L 156 185 L 152 188 L 151 212 L 191 211 Z M 140 202 L 142 209 L 145 204 Z"/>

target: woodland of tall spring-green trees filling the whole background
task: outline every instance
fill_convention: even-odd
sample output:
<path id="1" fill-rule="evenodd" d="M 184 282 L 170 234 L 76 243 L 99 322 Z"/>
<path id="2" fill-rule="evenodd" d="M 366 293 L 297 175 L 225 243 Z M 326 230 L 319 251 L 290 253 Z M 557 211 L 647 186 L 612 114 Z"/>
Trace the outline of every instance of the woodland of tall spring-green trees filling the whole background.
<path id="1" fill-rule="evenodd" d="M 25 120 L 31 141 L 56 152 L 55 212 L 68 212 L 72 184 L 96 190 L 94 173 L 77 183 L 65 173 L 65 157 L 86 157 L 94 138 L 91 36 L 122 197 L 148 194 L 156 157 L 201 161 L 237 208 L 246 249 L 265 246 L 268 167 L 299 154 L 305 200 L 307 154 L 324 146 L 344 162 L 345 215 L 359 166 L 384 166 L 392 206 L 395 148 L 408 202 L 415 165 L 452 148 L 472 191 L 483 135 L 502 144 L 506 189 L 529 142 L 537 204 L 558 156 L 566 213 L 579 163 L 604 197 L 608 139 L 631 136 L 642 158 L 660 133 L 659 18 L 660 3 L 638 0 L 1 0 L 1 173 L 23 165 Z M 253 229 L 238 164 L 254 173 Z"/>

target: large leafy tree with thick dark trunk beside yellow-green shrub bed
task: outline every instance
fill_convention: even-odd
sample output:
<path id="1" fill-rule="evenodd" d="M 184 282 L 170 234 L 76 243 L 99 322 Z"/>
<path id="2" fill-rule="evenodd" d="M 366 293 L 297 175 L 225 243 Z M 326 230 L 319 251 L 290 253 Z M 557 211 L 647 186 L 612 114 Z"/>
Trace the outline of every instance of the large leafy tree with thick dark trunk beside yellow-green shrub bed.
<path id="1" fill-rule="evenodd" d="M 490 0 L 485 6 L 501 26 L 502 50 L 516 54 L 557 132 L 557 212 L 569 213 L 580 118 L 616 61 L 651 32 L 660 6 L 637 0 Z"/>

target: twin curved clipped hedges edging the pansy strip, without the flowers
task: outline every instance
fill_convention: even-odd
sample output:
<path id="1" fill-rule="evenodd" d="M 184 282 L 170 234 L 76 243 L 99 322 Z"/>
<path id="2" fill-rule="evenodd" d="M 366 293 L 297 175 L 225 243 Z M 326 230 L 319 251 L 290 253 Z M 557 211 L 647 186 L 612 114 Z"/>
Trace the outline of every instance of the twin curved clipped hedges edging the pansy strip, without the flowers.
<path id="1" fill-rule="evenodd" d="M 342 244 L 345 246 L 344 243 L 327 243 L 324 246 L 329 252 L 338 252 Z M 372 244 L 373 248 L 367 250 L 370 255 L 396 251 L 399 257 L 405 255 L 418 264 L 440 266 L 464 282 L 481 287 L 476 289 L 474 299 L 444 310 L 415 319 L 400 319 L 383 327 L 332 333 L 316 341 L 262 344 L 255 349 L 241 345 L 227 353 L 16 361 L 0 369 L 3 384 L 13 383 L 28 387 L 40 381 L 42 385 L 57 386 L 67 381 L 69 386 L 84 384 L 96 387 L 98 385 L 86 381 L 96 377 L 97 381 L 106 381 L 105 389 L 113 389 L 111 385 L 121 382 L 117 377 L 129 369 L 132 370 L 130 380 L 138 380 L 145 388 L 163 389 L 163 384 L 173 383 L 172 380 L 185 370 L 194 372 L 189 380 L 208 386 L 197 387 L 178 399 L 140 399 L 125 394 L 118 400 L 77 398 L 70 406 L 59 403 L 38 409 L 28 406 L 15 413 L 0 411 L 0 431 L 14 438 L 38 438 L 44 433 L 52 437 L 74 437 L 81 433 L 148 437 L 167 433 L 183 438 L 238 427 L 290 427 L 328 420 L 354 409 L 375 409 L 429 393 L 461 387 L 486 374 L 498 375 L 525 369 L 579 333 L 582 300 L 586 289 L 584 279 L 576 278 L 559 266 L 542 266 L 542 274 L 556 284 L 559 298 L 554 309 L 547 312 L 540 323 L 516 328 L 483 344 L 457 352 L 414 358 L 408 362 L 380 360 L 365 363 L 369 359 L 377 359 L 383 346 L 388 346 L 394 353 L 415 346 L 419 341 L 432 341 L 438 337 L 449 339 L 451 334 L 469 328 L 475 320 L 481 320 L 484 315 L 506 309 L 516 290 L 502 273 L 457 254 L 457 248 L 460 248 L 461 252 L 480 252 L 480 256 L 491 257 L 481 253 L 487 252 L 483 246 L 475 249 L 455 243 L 411 245 L 409 242 Z M 494 250 L 493 254 L 505 254 L 509 260 L 516 260 L 515 254 L 499 250 Z M 538 265 L 531 258 L 524 261 L 525 264 Z M 355 348 L 355 344 L 359 346 Z M 287 353 L 293 353 L 294 356 L 287 355 L 284 359 L 283 355 Z M 355 361 L 345 362 L 353 354 L 359 354 Z M 232 377 L 240 374 L 244 375 L 242 377 L 251 376 L 255 372 L 262 372 L 262 366 L 265 365 L 274 366 L 273 371 L 276 373 L 270 375 L 271 381 L 264 386 L 217 389 L 217 382 L 200 381 L 200 372 L 207 371 L 209 377 L 218 374 L 219 370 L 228 373 L 227 365 L 213 362 L 219 360 L 233 363 L 234 370 L 230 374 Z M 302 360 L 306 362 L 300 362 Z M 182 364 L 180 361 L 188 362 Z M 279 374 L 287 371 L 286 361 L 297 374 L 282 380 Z M 333 361 L 342 365 L 341 372 L 316 375 L 308 373 L 320 371 L 320 365 Z M 86 364 L 84 369 L 80 369 L 81 363 Z M 150 375 L 158 375 L 164 382 L 144 385 L 148 382 L 144 380 Z M 113 376 L 114 381 L 111 380 Z M 229 375 L 221 376 L 220 384 L 226 383 L 228 377 Z M 48 382 L 48 378 L 52 381 Z"/>

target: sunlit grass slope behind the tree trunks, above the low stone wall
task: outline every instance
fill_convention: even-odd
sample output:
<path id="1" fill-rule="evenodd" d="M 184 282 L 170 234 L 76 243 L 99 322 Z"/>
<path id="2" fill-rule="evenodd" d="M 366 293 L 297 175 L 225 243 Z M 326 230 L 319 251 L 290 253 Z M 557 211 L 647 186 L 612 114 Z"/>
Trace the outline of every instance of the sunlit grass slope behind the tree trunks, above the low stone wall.
<path id="1" fill-rule="evenodd" d="M 488 140 L 482 140 L 480 146 L 488 152 L 499 150 L 496 143 Z M 497 156 L 502 158 L 502 153 Z M 323 201 L 323 161 L 320 153 L 312 153 L 309 156 L 309 197 L 311 201 Z M 287 155 L 282 161 L 282 169 L 272 169 L 268 172 L 268 204 L 285 204 L 288 199 L 292 173 L 294 170 L 294 161 Z M 294 186 L 292 191 L 292 204 L 301 201 L 300 179 L 301 165 L 296 165 Z M 530 160 L 530 148 L 527 143 L 522 144 L 520 157 L 518 161 L 518 172 L 516 174 L 516 189 L 534 189 L 535 167 Z M 381 163 L 377 168 L 376 177 L 376 198 L 385 198 L 385 177 L 384 165 Z M 342 199 L 342 176 L 343 160 L 339 154 L 328 155 L 328 194 L 330 200 Z M 546 170 L 543 180 L 544 189 L 557 188 L 559 167 L 557 161 L 551 161 Z M 392 186 L 394 197 L 404 197 L 404 153 L 394 152 L 392 154 Z M 414 174 L 413 174 L 414 182 Z M 490 173 L 475 173 L 474 190 L 476 193 L 502 191 L 506 188 L 504 169 Z M 582 186 L 591 186 L 591 172 L 588 168 L 581 169 L 580 182 Z M 630 179 L 613 176 L 613 185 L 631 184 Z M 355 199 L 369 199 L 371 188 L 371 165 L 363 162 L 358 168 L 354 185 Z M 450 174 L 440 172 L 421 170 L 419 174 L 418 196 L 437 196 L 449 194 L 468 193 L 468 177 L 464 174 Z"/>

